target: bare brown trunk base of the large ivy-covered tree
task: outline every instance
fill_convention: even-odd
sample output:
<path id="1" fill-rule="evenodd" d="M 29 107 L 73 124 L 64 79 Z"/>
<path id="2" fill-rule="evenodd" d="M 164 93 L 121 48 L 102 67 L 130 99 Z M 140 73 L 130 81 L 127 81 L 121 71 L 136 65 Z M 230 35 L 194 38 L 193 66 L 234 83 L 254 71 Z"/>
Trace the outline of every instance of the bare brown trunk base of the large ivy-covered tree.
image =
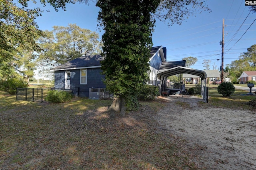
<path id="1" fill-rule="evenodd" d="M 108 108 L 108 112 L 120 113 L 120 115 L 125 115 L 125 99 L 122 97 L 114 97 L 112 104 Z"/>

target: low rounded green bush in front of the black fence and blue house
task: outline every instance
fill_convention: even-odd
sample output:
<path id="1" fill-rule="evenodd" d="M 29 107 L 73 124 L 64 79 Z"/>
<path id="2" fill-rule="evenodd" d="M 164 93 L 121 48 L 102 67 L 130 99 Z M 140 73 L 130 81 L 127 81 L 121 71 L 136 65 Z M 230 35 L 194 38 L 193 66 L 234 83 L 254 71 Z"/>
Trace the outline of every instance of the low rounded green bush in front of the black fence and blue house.
<path id="1" fill-rule="evenodd" d="M 51 103 L 64 103 L 66 101 L 70 101 L 72 99 L 72 95 L 67 91 L 57 91 L 51 90 L 48 91 L 45 100 Z"/>

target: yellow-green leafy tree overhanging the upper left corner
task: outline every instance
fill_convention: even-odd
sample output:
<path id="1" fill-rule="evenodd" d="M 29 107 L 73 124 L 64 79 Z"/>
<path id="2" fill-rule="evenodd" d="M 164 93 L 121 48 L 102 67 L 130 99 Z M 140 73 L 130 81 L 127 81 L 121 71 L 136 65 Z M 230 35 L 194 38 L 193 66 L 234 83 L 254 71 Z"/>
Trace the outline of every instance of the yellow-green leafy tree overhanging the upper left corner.
<path id="1" fill-rule="evenodd" d="M 12 77 L 14 55 L 19 53 L 17 47 L 28 51 L 40 51 L 36 39 L 44 36 L 38 29 L 35 20 L 42 16 L 40 8 L 29 8 L 28 2 L 50 4 L 58 11 L 65 10 L 66 3 L 83 2 L 88 0 L 1 0 L 0 1 L 0 78 Z M 4 71 L 2 71 L 2 69 Z"/>

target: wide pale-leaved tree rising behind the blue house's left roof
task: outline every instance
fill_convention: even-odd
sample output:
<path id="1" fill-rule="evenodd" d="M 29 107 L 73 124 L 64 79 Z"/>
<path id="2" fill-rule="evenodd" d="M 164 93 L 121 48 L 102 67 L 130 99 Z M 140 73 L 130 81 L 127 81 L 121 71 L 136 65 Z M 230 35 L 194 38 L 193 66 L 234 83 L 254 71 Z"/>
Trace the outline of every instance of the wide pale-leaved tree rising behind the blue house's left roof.
<path id="1" fill-rule="evenodd" d="M 98 54 L 99 35 L 96 32 L 80 28 L 76 24 L 53 26 L 52 31 L 44 31 L 45 37 L 38 39 L 40 52 L 38 62 L 42 66 L 57 66 L 82 55 Z"/>

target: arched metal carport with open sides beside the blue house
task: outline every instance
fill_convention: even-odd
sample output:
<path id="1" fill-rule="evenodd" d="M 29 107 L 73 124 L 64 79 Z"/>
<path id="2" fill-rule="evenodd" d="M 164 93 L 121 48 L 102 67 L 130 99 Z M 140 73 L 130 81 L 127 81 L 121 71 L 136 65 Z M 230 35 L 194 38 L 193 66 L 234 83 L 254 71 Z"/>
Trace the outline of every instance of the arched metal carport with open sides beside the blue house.
<path id="1" fill-rule="evenodd" d="M 188 67 L 182 67 L 177 66 L 170 69 L 161 69 L 157 77 L 160 79 L 161 86 L 160 86 L 160 92 L 164 91 L 166 89 L 166 81 L 167 77 L 171 75 L 181 74 L 181 73 L 188 73 L 192 75 L 197 75 L 201 78 L 201 95 L 205 103 L 208 102 L 208 90 L 206 87 L 206 73 L 202 70 L 192 69 Z"/>

